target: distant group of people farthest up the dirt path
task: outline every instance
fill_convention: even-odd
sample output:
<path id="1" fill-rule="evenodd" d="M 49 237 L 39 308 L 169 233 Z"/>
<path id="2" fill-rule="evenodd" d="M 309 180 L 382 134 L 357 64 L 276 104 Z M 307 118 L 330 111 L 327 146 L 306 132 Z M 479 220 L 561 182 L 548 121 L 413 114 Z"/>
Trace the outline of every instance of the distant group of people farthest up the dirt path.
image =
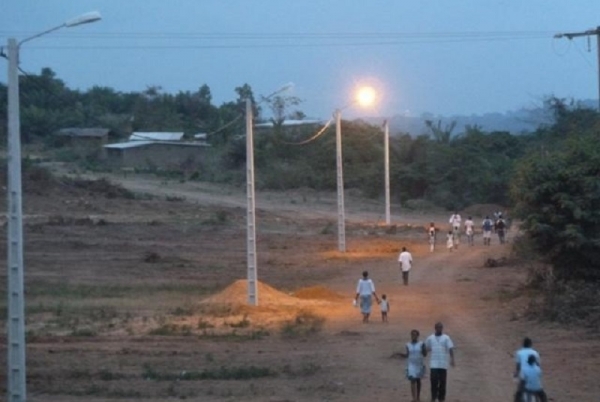
<path id="1" fill-rule="evenodd" d="M 500 244 L 506 242 L 506 230 L 507 223 L 501 212 L 494 212 L 494 220 L 490 219 L 489 215 L 481 223 L 481 231 L 483 233 L 483 244 L 489 246 L 492 242 L 492 231 L 498 235 L 498 241 Z M 475 245 L 475 222 L 473 217 L 469 216 L 464 224 L 462 223 L 462 217 L 458 212 L 454 212 L 448 220 L 450 229 L 446 235 L 446 248 L 449 251 L 456 250 L 460 245 L 461 238 L 461 226 L 464 226 L 464 233 L 467 236 L 467 244 L 469 246 Z M 435 223 L 431 222 L 427 233 L 429 236 L 429 251 L 435 250 L 436 237 L 438 229 L 435 227 Z"/>

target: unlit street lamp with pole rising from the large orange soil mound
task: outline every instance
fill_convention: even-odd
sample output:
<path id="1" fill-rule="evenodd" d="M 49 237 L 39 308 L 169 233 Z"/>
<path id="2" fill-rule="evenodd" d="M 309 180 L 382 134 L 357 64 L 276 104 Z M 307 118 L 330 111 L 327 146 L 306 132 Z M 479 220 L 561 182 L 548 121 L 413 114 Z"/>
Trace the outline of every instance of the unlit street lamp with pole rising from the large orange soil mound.
<path id="1" fill-rule="evenodd" d="M 261 102 L 268 101 L 273 96 L 287 91 L 294 84 L 288 83 L 272 94 L 264 97 Z M 258 273 L 256 269 L 256 202 L 254 199 L 254 122 L 252 100 L 246 98 L 246 245 L 247 245 L 247 282 L 248 304 L 258 306 Z"/>

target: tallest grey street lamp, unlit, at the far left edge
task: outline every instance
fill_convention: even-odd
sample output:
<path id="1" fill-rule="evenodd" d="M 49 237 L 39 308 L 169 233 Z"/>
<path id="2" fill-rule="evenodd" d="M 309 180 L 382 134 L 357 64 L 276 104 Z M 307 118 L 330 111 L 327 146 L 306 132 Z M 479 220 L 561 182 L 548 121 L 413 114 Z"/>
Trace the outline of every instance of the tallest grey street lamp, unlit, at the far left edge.
<path id="1" fill-rule="evenodd" d="M 94 11 L 20 42 L 14 38 L 8 39 L 8 370 L 6 376 L 9 402 L 24 402 L 26 398 L 19 49 L 23 43 L 60 28 L 70 28 L 100 19 L 100 13 Z"/>

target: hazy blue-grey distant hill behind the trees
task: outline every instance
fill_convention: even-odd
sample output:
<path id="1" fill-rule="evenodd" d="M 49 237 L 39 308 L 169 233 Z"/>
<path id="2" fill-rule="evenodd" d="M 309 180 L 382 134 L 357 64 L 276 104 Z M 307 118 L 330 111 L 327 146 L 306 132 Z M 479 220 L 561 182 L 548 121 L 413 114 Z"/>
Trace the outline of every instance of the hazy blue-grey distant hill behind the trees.
<path id="1" fill-rule="evenodd" d="M 579 102 L 582 107 L 597 108 L 598 102 L 595 100 L 586 100 Z M 382 124 L 383 118 L 370 117 L 363 120 L 372 124 Z M 429 134 L 430 131 L 425 125 L 425 121 L 431 120 L 437 125 L 441 122 L 442 127 L 448 127 L 452 122 L 456 122 L 456 127 L 452 135 L 459 135 L 465 132 L 467 126 L 478 127 L 484 132 L 507 131 L 511 134 L 523 134 L 533 132 L 541 125 L 551 124 L 552 115 L 548 110 L 538 109 L 519 109 L 506 113 L 486 113 L 482 115 L 453 115 L 440 116 L 431 113 L 424 113 L 419 117 L 394 115 L 389 119 L 390 134 L 408 133 L 411 136 Z"/>

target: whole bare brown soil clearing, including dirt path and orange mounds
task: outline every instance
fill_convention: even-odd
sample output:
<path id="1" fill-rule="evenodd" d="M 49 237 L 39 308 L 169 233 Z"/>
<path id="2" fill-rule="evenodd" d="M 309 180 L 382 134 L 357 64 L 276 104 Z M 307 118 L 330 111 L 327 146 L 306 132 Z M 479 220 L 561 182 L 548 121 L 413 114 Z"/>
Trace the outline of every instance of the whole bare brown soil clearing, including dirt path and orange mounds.
<path id="1" fill-rule="evenodd" d="M 424 338 L 439 320 L 456 344 L 448 401 L 510 401 L 511 354 L 524 336 L 542 355 L 551 400 L 598 400 L 598 335 L 524 318 L 526 267 L 510 263 L 509 245 L 479 238 L 430 253 L 424 228 L 444 227 L 446 214 L 394 207 L 390 230 L 381 203 L 348 194 L 348 252 L 339 253 L 335 194 L 259 192 L 252 307 L 243 189 L 109 179 L 136 199 L 109 185 L 26 185 L 30 401 L 410 401 L 405 362 L 392 355 L 411 329 Z M 415 259 L 409 286 L 396 262 L 402 246 Z M 6 255 L 5 239 L 0 247 Z M 509 264 L 484 267 L 500 257 Z M 390 300 L 387 324 L 375 307 L 364 325 L 352 307 L 364 269 Z M 6 367 L 5 335 L 0 348 Z"/>

